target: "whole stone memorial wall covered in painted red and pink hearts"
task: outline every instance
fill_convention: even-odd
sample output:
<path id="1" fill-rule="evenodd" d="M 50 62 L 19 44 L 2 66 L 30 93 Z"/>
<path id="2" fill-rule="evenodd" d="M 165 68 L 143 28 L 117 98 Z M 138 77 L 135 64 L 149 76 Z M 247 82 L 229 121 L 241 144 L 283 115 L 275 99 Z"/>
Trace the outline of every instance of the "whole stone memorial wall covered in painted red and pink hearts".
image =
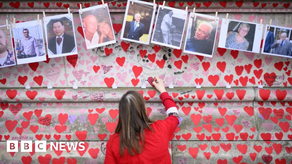
<path id="1" fill-rule="evenodd" d="M 69 7 L 78 48 L 76 55 L 0 68 L 0 163 L 103 163 L 119 99 L 127 90 L 141 93 L 151 119 L 165 118 L 159 93 L 150 86 L 154 76 L 175 87 L 167 88 L 180 114 L 169 143 L 173 163 L 292 163 L 291 58 L 218 48 L 226 13 L 229 19 L 263 19 L 263 24 L 272 19 L 272 25 L 291 28 L 290 1 L 166 1 L 166 6 L 195 7 L 207 15 L 218 11 L 213 58 L 183 53 L 184 43 L 178 50 L 122 41 L 126 1 L 121 0 L 109 2 L 117 43 L 87 50 L 77 11 L 100 3 L 0 2 L 0 25 L 13 18 L 36 20 L 37 14 L 42 19 L 42 11 L 64 14 Z M 256 88 L 260 81 L 262 89 Z M 198 82 L 200 89 L 194 87 Z M 232 88 L 225 88 L 227 82 Z M 32 88 L 25 90 L 26 85 Z M 7 140 L 84 141 L 86 150 L 9 153 Z"/>

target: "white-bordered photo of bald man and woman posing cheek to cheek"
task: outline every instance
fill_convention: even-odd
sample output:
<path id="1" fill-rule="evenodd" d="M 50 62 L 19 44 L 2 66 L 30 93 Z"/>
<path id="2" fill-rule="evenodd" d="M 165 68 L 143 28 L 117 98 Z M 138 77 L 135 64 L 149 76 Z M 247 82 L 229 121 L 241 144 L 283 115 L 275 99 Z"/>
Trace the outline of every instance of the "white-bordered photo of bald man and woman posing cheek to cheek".
<path id="1" fill-rule="evenodd" d="M 82 14 L 79 10 L 79 15 L 87 49 L 116 43 L 107 3 L 84 8 Z"/>

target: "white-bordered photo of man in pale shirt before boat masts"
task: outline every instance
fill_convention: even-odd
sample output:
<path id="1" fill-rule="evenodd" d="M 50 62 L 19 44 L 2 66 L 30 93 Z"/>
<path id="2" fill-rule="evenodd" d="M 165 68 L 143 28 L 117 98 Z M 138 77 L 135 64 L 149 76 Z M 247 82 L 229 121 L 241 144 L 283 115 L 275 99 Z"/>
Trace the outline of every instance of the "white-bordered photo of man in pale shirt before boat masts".
<path id="1" fill-rule="evenodd" d="M 47 60 L 41 20 L 16 23 L 13 36 L 17 64 Z"/>

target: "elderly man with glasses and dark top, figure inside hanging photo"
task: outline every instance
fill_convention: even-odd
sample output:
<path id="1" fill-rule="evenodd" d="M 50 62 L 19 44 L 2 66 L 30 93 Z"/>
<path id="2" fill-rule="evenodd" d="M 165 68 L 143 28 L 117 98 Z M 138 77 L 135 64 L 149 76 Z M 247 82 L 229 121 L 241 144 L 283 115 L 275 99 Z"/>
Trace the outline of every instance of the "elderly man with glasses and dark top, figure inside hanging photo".
<path id="1" fill-rule="evenodd" d="M 210 36 L 213 29 L 209 22 L 201 21 L 194 30 L 194 37 L 187 39 L 185 50 L 212 55 L 214 40 L 211 40 Z"/>

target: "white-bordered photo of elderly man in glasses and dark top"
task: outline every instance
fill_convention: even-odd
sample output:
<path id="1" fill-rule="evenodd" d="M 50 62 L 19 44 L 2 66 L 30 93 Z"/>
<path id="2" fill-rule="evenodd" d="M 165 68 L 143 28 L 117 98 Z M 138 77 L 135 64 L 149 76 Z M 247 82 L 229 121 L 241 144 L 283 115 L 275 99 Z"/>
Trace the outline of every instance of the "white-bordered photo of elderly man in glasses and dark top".
<path id="1" fill-rule="evenodd" d="M 183 52 L 213 57 L 218 22 L 214 16 L 191 12 Z"/>

